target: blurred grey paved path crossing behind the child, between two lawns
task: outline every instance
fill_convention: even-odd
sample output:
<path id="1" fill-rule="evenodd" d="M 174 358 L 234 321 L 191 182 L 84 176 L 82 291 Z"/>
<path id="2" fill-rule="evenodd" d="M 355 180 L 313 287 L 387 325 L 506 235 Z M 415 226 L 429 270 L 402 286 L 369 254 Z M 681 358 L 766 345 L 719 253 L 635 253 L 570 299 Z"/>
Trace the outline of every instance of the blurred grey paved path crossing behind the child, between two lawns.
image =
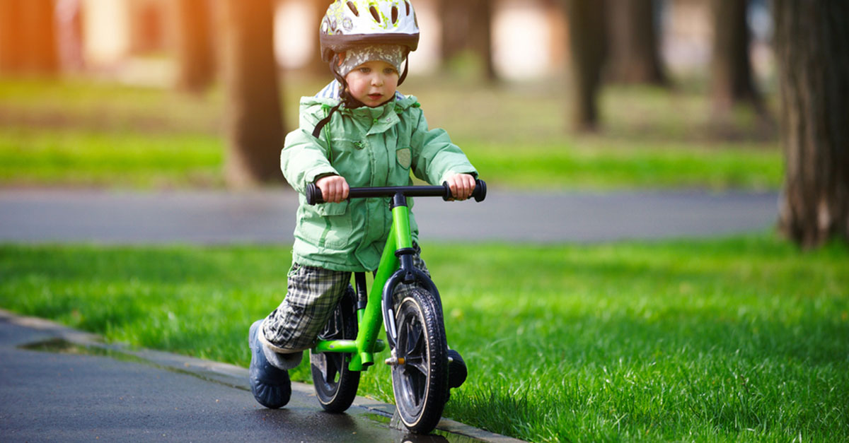
<path id="1" fill-rule="evenodd" d="M 0 190 L 0 242 L 278 243 L 292 241 L 297 197 L 251 193 Z M 510 193 L 482 203 L 417 199 L 422 238 L 600 242 L 706 237 L 771 227 L 774 193 Z"/>

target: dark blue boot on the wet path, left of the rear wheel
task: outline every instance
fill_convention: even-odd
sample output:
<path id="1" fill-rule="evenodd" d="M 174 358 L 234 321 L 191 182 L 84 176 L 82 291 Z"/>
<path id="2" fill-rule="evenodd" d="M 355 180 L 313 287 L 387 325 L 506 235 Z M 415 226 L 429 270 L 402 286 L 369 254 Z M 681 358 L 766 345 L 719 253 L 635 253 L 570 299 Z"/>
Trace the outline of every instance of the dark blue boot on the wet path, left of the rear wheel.
<path id="1" fill-rule="evenodd" d="M 289 373 L 273 367 L 262 352 L 262 342 L 256 337 L 262 320 L 250 325 L 248 345 L 250 345 L 250 392 L 264 407 L 277 409 L 289 403 L 292 395 L 292 382 Z"/>

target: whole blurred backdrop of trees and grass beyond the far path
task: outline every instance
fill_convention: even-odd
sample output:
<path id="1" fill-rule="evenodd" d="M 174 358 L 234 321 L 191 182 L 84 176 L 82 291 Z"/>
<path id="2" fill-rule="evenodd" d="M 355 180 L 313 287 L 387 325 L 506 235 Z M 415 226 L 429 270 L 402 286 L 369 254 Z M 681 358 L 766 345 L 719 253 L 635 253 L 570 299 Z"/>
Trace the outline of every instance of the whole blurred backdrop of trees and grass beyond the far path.
<path id="1" fill-rule="evenodd" d="M 0 186 L 282 182 L 299 98 L 332 80 L 329 3 L 3 0 Z M 413 6 L 421 42 L 400 90 L 495 186 L 782 186 L 775 17 L 792 2 Z"/>

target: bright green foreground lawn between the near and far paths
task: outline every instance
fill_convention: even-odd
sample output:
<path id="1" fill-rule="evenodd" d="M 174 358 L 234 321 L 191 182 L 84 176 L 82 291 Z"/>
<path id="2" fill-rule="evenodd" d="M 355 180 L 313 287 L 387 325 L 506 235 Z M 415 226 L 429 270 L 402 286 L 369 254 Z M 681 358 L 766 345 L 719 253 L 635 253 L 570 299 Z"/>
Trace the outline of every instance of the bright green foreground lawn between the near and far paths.
<path id="1" fill-rule="evenodd" d="M 846 245 L 423 246 L 470 371 L 447 417 L 533 441 L 849 439 Z M 289 261 L 286 247 L 5 245 L 0 306 L 245 366 Z M 389 400 L 387 368 L 361 393 Z"/>

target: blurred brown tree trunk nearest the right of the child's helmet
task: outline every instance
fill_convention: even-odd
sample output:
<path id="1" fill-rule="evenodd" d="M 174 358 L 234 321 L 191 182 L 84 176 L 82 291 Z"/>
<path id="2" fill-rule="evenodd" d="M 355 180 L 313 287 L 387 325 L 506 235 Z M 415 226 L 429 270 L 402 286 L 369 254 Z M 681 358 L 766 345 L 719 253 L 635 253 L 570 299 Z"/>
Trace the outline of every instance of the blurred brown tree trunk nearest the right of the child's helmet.
<path id="1" fill-rule="evenodd" d="M 439 0 L 442 64 L 464 51 L 481 58 L 483 76 L 496 80 L 492 62 L 492 0 Z"/>

